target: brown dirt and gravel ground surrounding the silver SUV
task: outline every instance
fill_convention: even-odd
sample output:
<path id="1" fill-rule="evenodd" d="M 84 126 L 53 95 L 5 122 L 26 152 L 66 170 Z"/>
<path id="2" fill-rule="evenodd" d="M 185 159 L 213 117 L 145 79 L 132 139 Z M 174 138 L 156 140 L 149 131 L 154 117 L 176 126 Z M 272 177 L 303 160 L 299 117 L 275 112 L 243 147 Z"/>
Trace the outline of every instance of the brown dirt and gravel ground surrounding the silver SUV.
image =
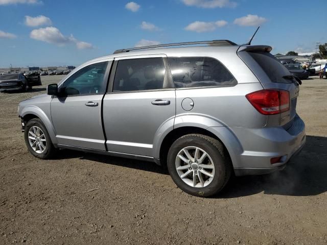
<path id="1" fill-rule="evenodd" d="M 0 94 L 0 244 L 327 244 L 327 80 L 303 81 L 307 144 L 287 168 L 192 197 L 153 163 L 62 150 L 28 153 L 17 105 Z"/>

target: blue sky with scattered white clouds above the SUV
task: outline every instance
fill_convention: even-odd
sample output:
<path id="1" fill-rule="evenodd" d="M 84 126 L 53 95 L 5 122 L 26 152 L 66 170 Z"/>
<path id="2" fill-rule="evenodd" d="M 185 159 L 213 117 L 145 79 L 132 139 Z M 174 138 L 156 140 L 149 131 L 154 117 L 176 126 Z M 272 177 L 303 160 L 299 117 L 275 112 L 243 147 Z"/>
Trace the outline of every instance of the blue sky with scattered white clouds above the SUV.
<path id="1" fill-rule="evenodd" d="M 269 44 L 273 54 L 327 42 L 326 0 L 130 2 L 0 0 L 0 67 L 79 65 L 147 43 L 244 43 L 259 24 L 252 44 Z"/>

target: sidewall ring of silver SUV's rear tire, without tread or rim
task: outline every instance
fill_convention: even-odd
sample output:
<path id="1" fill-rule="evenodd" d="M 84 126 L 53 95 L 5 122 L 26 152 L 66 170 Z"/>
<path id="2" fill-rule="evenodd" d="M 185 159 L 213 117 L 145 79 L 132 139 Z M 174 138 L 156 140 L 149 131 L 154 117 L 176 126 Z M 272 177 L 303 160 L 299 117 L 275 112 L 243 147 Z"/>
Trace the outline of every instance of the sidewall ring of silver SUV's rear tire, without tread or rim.
<path id="1" fill-rule="evenodd" d="M 189 186 L 179 177 L 177 173 L 175 159 L 179 151 L 185 148 L 186 146 L 196 146 L 198 148 L 201 148 L 213 160 L 213 164 L 215 165 L 214 179 L 210 184 L 205 187 L 196 188 Z M 224 157 L 220 154 L 220 152 L 215 148 L 213 144 L 199 137 L 188 136 L 176 140 L 169 150 L 167 166 L 169 174 L 171 175 L 175 184 L 186 193 L 196 195 L 198 197 L 208 197 L 217 193 L 221 188 L 223 188 L 225 183 L 224 178 L 226 176 L 226 165 Z"/>

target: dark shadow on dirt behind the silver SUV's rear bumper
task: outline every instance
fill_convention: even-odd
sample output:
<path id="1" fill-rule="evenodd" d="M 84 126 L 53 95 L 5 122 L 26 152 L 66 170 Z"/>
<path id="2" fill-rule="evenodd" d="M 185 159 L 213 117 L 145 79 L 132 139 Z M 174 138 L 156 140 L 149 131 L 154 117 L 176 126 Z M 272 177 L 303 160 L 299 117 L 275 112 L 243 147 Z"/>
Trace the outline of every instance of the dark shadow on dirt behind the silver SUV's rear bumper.
<path id="1" fill-rule="evenodd" d="M 235 177 L 216 198 L 237 198 L 259 192 L 306 196 L 327 191 L 327 138 L 307 136 L 301 153 L 282 171 L 270 175 Z"/>

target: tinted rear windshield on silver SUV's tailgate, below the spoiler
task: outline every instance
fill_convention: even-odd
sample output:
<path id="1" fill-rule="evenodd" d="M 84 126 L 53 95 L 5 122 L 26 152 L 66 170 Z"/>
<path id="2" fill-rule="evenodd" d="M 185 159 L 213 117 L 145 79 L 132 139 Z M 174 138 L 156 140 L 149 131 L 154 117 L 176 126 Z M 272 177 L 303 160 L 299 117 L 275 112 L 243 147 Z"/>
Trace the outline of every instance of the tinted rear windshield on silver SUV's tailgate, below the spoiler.
<path id="1" fill-rule="evenodd" d="M 273 83 L 293 83 L 292 79 L 285 79 L 283 76 L 290 76 L 288 69 L 279 62 L 272 54 L 267 52 L 248 52 L 248 54 L 266 72 Z"/>

